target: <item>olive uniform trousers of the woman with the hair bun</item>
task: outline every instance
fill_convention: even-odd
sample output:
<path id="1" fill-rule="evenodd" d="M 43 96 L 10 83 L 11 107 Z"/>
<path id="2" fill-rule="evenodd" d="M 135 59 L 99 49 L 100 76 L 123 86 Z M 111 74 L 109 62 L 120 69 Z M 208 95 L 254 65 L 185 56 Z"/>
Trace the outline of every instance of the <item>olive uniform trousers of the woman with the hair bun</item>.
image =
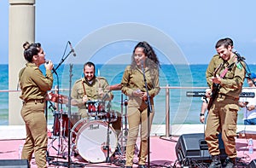
<path id="1" fill-rule="evenodd" d="M 21 159 L 32 159 L 34 152 L 38 168 L 47 167 L 47 124 L 44 116 L 44 102 L 30 101 L 23 104 L 21 117 L 26 125 L 26 142 L 22 149 Z"/>

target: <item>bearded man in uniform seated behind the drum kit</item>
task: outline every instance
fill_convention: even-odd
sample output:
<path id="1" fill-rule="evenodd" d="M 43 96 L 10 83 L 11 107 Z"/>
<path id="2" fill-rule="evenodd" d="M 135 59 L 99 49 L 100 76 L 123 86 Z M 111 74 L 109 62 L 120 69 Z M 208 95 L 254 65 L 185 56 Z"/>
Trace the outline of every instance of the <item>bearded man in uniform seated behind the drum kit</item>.
<path id="1" fill-rule="evenodd" d="M 98 101 L 98 109 L 104 108 L 105 105 L 101 104 L 102 101 L 111 101 L 113 99 L 113 93 L 106 78 L 96 77 L 95 65 L 88 61 L 84 64 L 84 78 L 80 78 L 73 84 L 71 97 L 71 104 L 79 108 L 81 118 L 90 118 L 90 113 L 96 111 L 96 109 L 91 109 L 89 102 Z M 121 130 L 120 115 L 118 115 L 117 120 L 112 125 L 113 129 L 117 132 L 117 136 L 119 136 Z"/>

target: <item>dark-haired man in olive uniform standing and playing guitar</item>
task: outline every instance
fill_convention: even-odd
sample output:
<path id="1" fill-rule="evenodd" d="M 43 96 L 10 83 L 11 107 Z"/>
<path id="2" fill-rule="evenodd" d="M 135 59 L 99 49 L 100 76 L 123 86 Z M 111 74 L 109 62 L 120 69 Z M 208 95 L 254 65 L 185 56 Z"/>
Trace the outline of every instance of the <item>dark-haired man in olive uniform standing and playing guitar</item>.
<path id="1" fill-rule="evenodd" d="M 218 148 L 218 134 L 222 132 L 225 153 L 230 158 L 226 167 L 230 168 L 236 166 L 236 122 L 245 65 L 240 56 L 232 52 L 233 41 L 230 38 L 218 40 L 215 49 L 218 55 L 212 57 L 206 72 L 207 84 L 212 89 L 205 131 L 209 153 L 212 155 L 209 167 L 222 166 Z"/>

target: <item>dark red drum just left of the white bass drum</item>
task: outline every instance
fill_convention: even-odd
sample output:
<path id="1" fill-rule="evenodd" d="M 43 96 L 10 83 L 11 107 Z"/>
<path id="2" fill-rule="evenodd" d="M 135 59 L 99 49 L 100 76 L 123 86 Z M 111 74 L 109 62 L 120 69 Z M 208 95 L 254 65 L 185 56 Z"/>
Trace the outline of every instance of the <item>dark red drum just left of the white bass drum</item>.
<path id="1" fill-rule="evenodd" d="M 73 127 L 73 125 L 71 124 L 70 127 Z M 53 136 L 68 136 L 67 112 L 54 113 Z"/>

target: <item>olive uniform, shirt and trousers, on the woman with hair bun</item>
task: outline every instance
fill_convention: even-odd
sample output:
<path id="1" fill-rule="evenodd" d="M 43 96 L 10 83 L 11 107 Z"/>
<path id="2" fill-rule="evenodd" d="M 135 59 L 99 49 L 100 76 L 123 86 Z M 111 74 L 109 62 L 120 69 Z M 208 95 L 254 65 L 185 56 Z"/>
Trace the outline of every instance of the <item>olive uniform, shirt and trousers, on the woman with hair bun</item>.
<path id="1" fill-rule="evenodd" d="M 27 63 L 20 70 L 20 99 L 23 100 L 21 116 L 26 124 L 26 142 L 24 144 L 21 158 L 31 161 L 32 153 L 38 167 L 47 167 L 47 123 L 44 116 L 45 97 L 47 91 L 51 90 L 53 76 L 50 70 L 46 75 L 33 63 Z"/>

